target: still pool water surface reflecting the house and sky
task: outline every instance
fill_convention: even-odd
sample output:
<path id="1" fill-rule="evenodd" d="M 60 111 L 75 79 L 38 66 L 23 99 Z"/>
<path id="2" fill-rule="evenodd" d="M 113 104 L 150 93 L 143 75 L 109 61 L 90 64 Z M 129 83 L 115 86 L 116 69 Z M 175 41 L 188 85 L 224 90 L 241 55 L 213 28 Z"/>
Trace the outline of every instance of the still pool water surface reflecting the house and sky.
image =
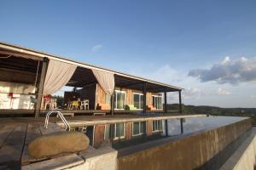
<path id="1" fill-rule="evenodd" d="M 163 121 L 120 122 L 87 127 L 86 134 L 89 136 L 90 144 L 93 147 L 97 148 L 101 147 L 102 144 L 110 144 L 114 149 L 119 150 L 151 140 L 224 126 L 242 119 L 246 119 L 246 117 L 206 116 Z"/>

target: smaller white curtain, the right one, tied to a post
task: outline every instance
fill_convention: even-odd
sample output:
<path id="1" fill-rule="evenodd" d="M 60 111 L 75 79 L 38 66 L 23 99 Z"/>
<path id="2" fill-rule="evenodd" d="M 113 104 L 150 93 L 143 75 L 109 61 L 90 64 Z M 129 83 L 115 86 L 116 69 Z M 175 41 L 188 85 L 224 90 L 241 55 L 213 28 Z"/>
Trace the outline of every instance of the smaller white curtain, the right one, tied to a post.
<path id="1" fill-rule="evenodd" d="M 100 84 L 104 92 L 108 95 L 113 94 L 114 89 L 114 76 L 111 72 L 98 71 L 92 69 L 94 76 L 96 77 L 97 82 Z"/>

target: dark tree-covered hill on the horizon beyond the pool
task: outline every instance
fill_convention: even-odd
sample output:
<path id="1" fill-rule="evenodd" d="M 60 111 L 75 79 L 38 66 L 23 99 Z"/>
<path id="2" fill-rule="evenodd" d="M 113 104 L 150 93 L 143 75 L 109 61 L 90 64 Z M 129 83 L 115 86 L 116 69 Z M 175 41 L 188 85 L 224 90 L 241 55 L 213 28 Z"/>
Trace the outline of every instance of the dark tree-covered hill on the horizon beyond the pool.
<path id="1" fill-rule="evenodd" d="M 168 111 L 178 110 L 178 104 L 168 104 Z M 188 114 L 207 114 L 212 116 L 249 116 L 256 125 L 256 108 L 221 108 L 208 105 L 183 105 L 183 112 Z"/>

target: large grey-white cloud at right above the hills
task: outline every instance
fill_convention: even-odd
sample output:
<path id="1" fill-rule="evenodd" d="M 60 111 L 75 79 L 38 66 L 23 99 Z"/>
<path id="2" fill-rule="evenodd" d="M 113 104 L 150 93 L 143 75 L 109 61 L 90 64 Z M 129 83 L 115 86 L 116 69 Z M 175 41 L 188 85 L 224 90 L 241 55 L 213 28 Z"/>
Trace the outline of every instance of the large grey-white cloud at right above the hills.
<path id="1" fill-rule="evenodd" d="M 215 81 L 218 83 L 238 84 L 240 82 L 256 81 L 256 58 L 232 60 L 225 57 L 220 63 L 210 69 L 195 69 L 189 71 L 189 77 L 198 77 L 201 82 Z"/>

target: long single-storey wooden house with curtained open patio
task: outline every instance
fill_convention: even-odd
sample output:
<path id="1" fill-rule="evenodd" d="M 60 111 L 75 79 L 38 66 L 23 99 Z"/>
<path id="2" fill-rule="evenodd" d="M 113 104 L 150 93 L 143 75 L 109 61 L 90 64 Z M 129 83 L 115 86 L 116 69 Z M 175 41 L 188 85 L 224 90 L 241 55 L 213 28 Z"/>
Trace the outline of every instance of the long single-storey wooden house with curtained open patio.
<path id="1" fill-rule="evenodd" d="M 67 111 L 63 112 L 166 113 L 169 92 L 178 93 L 181 104 L 182 88 L 4 42 L 0 42 L 0 61 L 1 114 L 38 117 L 56 109 L 49 96 L 63 86 L 78 89 L 65 92 L 61 109 Z"/>

